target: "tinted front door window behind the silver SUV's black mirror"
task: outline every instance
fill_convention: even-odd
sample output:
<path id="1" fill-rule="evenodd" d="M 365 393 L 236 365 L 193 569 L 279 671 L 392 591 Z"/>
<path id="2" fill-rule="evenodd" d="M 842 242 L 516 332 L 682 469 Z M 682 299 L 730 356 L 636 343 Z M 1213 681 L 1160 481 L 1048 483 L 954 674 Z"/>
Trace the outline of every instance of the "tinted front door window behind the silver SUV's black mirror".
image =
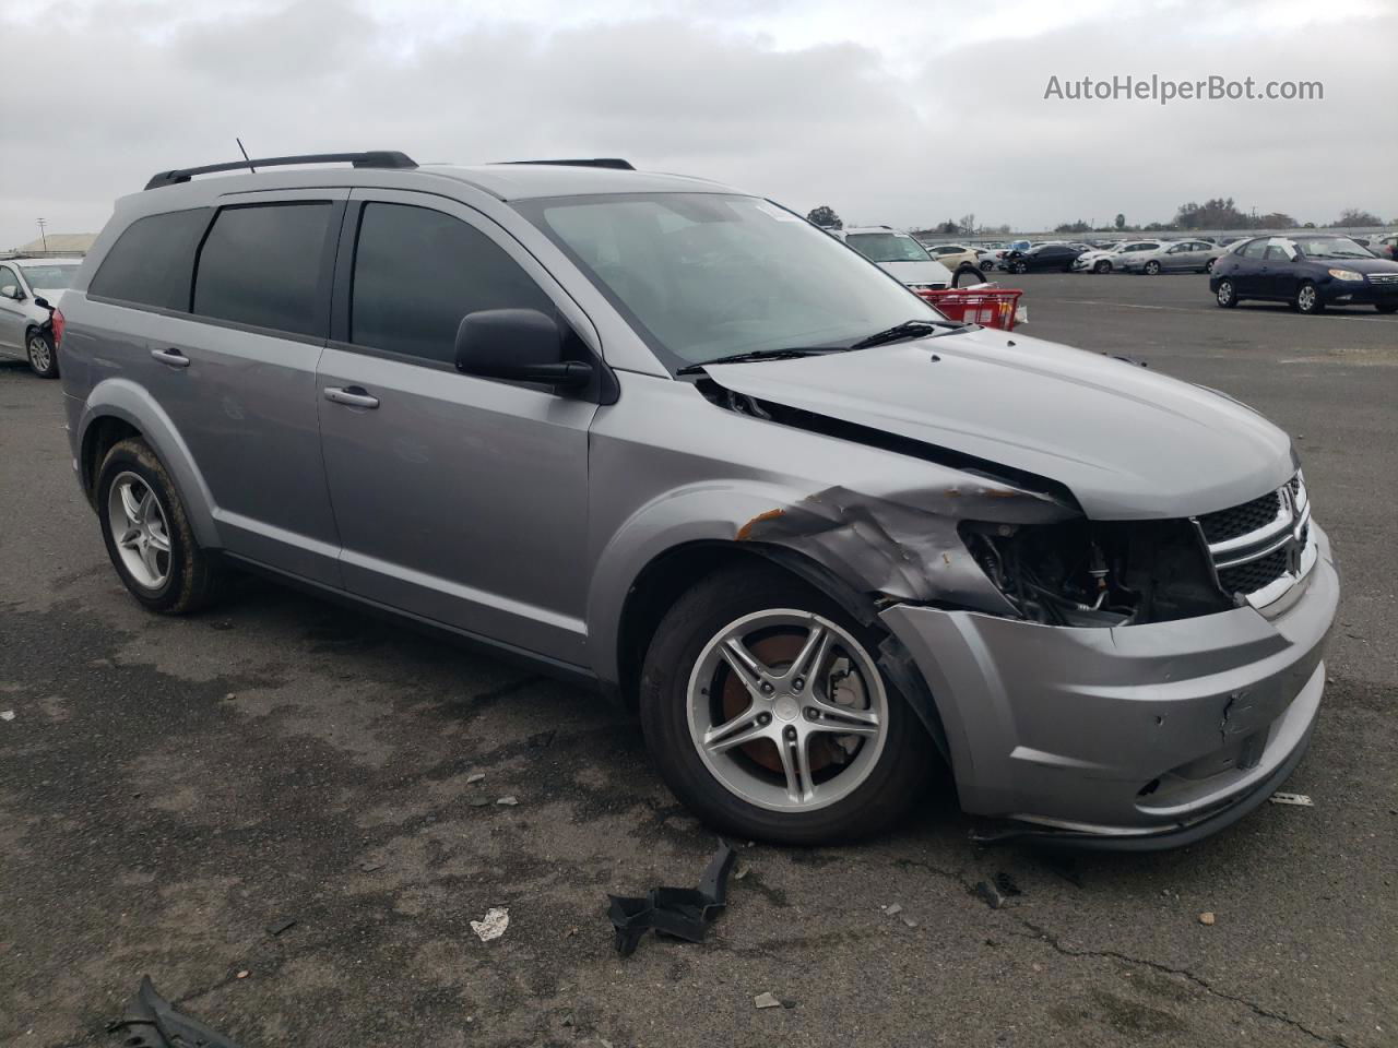
<path id="1" fill-rule="evenodd" d="M 456 356 L 461 317 L 554 303 L 493 240 L 440 211 L 368 204 L 359 221 L 350 341 L 429 361 Z"/>

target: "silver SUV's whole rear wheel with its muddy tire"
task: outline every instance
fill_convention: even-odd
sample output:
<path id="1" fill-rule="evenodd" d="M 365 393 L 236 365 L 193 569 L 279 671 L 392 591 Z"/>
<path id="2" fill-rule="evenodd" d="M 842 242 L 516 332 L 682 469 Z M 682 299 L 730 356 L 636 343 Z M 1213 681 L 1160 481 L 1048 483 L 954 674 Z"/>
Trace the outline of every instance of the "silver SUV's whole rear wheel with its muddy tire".
<path id="1" fill-rule="evenodd" d="M 106 453 L 96 511 L 112 566 L 145 608 L 186 615 L 217 595 L 217 566 L 194 541 L 185 503 L 144 440 L 122 440 Z"/>

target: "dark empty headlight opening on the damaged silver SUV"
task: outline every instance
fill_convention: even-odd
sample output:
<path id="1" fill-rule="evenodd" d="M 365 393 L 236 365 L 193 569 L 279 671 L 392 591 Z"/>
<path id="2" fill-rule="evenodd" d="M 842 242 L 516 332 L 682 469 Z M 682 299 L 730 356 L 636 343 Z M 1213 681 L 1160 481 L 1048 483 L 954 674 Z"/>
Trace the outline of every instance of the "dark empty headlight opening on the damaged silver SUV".
<path id="1" fill-rule="evenodd" d="M 1131 626 L 1232 606 L 1188 521 L 967 521 L 962 539 L 1019 613 L 1051 626 Z"/>

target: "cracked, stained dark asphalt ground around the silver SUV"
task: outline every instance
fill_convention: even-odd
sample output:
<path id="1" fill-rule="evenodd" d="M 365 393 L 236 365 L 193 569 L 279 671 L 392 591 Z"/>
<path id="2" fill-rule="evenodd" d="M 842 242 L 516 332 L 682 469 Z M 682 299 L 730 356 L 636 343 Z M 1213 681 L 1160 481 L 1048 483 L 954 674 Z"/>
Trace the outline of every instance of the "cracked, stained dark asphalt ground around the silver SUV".
<path id="1" fill-rule="evenodd" d="M 1026 333 L 1296 437 L 1345 578 L 1288 787 L 1313 808 L 1058 859 L 969 844 L 942 781 L 877 841 L 744 848 L 710 942 L 618 959 L 605 893 L 692 885 L 714 847 L 630 721 L 263 581 L 147 615 L 73 483 L 59 386 L 0 365 L 0 1044 L 112 1044 L 143 974 L 245 1048 L 1398 1044 L 1398 319 L 1220 310 L 1202 277 L 1019 284 Z M 997 875 L 1021 894 L 991 908 Z M 493 905 L 509 929 L 481 943 Z"/>

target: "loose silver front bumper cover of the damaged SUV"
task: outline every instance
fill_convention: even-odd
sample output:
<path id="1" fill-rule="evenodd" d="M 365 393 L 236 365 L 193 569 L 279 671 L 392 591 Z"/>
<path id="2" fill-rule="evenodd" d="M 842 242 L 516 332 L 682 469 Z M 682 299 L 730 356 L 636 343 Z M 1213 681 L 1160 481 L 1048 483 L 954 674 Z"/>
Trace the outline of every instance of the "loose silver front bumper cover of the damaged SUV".
<path id="1" fill-rule="evenodd" d="M 1000 837 L 1167 848 L 1261 803 L 1320 710 L 1339 578 L 1316 531 L 1314 567 L 1261 611 L 1072 629 L 886 609 L 935 699 L 962 808 L 1009 820 Z"/>

